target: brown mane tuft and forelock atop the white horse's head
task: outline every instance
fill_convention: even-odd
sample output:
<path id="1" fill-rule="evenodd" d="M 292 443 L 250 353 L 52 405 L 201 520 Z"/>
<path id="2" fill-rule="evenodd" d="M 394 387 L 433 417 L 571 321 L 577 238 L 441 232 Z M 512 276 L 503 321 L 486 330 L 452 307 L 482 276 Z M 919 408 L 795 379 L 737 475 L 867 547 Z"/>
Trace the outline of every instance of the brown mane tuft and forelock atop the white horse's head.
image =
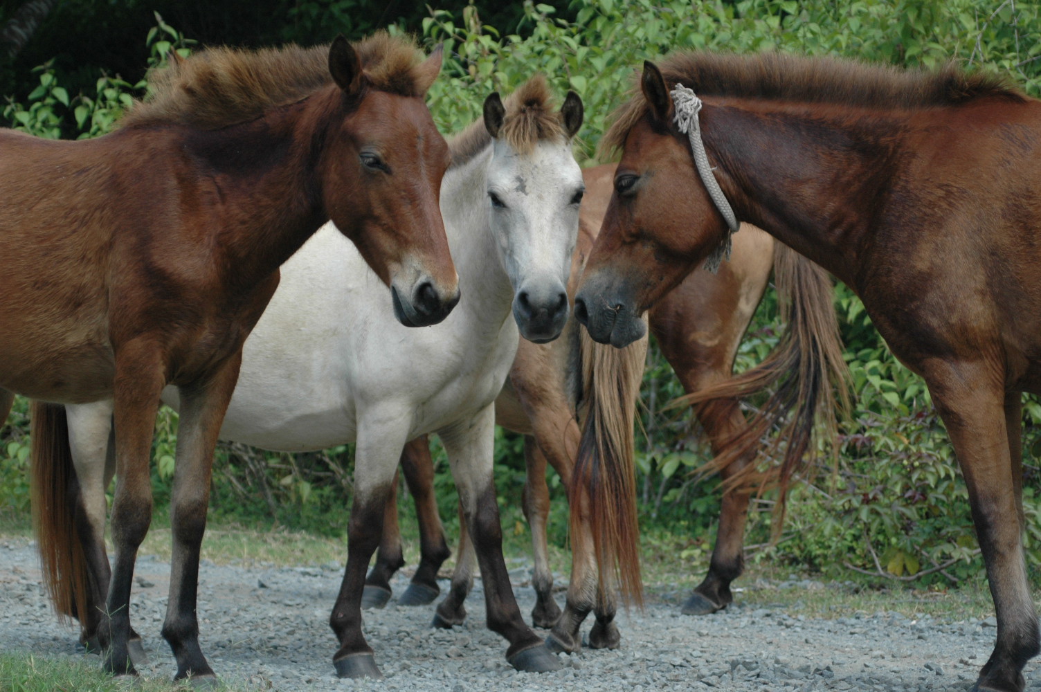
<path id="1" fill-rule="evenodd" d="M 557 110 L 543 75 L 535 75 L 503 101 L 506 114 L 499 130 L 503 139 L 519 154 L 530 154 L 540 139 L 566 139 L 563 120 Z M 449 142 L 452 165 L 465 163 L 491 144 L 491 135 L 478 118 Z"/>

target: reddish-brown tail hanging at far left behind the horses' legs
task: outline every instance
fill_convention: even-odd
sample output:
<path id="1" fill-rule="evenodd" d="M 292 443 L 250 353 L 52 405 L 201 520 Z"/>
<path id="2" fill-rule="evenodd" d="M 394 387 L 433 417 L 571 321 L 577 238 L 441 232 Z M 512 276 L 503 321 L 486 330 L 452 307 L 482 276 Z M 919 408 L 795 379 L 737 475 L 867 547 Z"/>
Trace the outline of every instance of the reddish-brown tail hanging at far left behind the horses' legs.
<path id="1" fill-rule="evenodd" d="M 86 612 L 87 565 L 76 528 L 78 488 L 64 406 L 32 402 L 32 526 L 44 586 L 58 620 Z"/>

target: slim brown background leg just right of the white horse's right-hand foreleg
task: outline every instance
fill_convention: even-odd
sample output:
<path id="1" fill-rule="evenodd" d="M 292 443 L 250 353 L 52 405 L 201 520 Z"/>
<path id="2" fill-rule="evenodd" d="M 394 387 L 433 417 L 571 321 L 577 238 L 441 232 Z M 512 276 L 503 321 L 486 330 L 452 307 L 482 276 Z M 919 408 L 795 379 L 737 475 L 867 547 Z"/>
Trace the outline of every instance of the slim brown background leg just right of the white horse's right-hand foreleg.
<path id="1" fill-rule="evenodd" d="M 524 438 L 524 458 L 527 466 L 523 494 L 524 515 L 531 528 L 535 557 L 532 575 L 535 607 L 531 611 L 531 622 L 536 627 L 549 629 L 560 619 L 560 607 L 553 599 L 553 570 L 550 569 L 550 546 L 545 536 L 550 518 L 550 489 L 545 485 L 545 456 L 531 435 L 525 435 Z"/>

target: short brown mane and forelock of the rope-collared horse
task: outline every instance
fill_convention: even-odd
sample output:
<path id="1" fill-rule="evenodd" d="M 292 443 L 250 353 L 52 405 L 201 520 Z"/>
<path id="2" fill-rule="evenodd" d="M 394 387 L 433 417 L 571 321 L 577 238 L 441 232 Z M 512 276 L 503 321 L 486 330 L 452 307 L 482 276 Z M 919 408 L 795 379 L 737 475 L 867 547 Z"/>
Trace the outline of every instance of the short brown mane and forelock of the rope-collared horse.
<path id="1" fill-rule="evenodd" d="M 657 65 L 669 89 L 681 83 L 699 96 L 892 109 L 953 106 L 985 97 L 1025 99 L 1009 77 L 967 73 L 953 61 L 929 71 L 778 52 L 689 51 L 674 53 Z M 629 130 L 646 111 L 637 75 L 629 100 L 612 117 L 601 152 L 621 149 Z"/>

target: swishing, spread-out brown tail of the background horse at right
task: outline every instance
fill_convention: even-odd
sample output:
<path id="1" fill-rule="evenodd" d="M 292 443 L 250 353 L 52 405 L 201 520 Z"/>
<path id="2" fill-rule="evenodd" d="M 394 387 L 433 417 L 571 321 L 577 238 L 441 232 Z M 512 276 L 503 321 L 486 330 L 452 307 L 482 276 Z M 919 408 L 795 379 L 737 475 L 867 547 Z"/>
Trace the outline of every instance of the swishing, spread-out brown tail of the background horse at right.
<path id="1" fill-rule="evenodd" d="M 849 370 L 842 358 L 834 288 L 828 273 L 787 246 L 778 242 L 773 256 L 773 280 L 781 319 L 787 325 L 777 348 L 758 366 L 723 382 L 684 396 L 699 404 L 736 399 L 768 387 L 773 393 L 740 433 L 725 441 L 706 470 L 719 470 L 758 451 L 760 440 L 779 428 L 768 446 L 770 456 L 782 453 L 780 466 L 765 470 L 756 464 L 731 477 L 728 487 L 755 486 L 763 490 L 777 485 L 775 530 L 784 519 L 785 499 L 792 475 L 816 458 L 814 433 L 832 440 L 837 452 L 836 398 L 842 411 L 849 407 Z"/>

